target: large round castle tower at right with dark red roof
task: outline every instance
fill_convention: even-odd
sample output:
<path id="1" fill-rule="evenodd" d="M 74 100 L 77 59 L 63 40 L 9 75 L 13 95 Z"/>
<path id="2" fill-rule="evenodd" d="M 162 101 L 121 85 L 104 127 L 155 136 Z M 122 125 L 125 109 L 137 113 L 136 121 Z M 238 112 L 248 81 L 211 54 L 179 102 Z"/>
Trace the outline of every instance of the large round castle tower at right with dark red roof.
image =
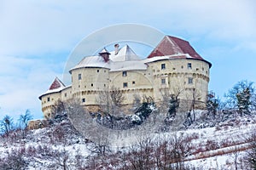
<path id="1" fill-rule="evenodd" d="M 187 103 L 195 100 L 199 108 L 204 107 L 212 64 L 197 54 L 189 42 L 166 36 L 145 62 L 153 71 L 156 101 L 161 101 L 164 91 L 168 91 Z"/>

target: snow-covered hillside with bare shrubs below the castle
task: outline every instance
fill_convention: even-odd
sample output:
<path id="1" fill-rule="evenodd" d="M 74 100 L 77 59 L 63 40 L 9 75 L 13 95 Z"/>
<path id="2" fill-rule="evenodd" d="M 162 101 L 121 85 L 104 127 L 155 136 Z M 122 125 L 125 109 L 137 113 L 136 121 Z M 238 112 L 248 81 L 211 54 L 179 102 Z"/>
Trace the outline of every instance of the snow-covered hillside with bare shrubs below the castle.
<path id="1" fill-rule="evenodd" d="M 159 162 L 175 162 L 164 160 L 165 144 L 166 150 L 178 145 L 174 149 L 182 153 L 179 158 L 187 169 L 248 169 L 245 156 L 256 116 L 233 114 L 216 121 L 203 118 L 204 114 L 197 111 L 195 122 L 176 132 L 147 131 L 150 125 L 145 123 L 143 128 L 115 131 L 115 136 L 94 142 L 84 139 L 68 120 L 16 131 L 0 138 L 0 169 L 136 169 L 140 156 L 148 159 L 150 169 L 160 169 Z"/>

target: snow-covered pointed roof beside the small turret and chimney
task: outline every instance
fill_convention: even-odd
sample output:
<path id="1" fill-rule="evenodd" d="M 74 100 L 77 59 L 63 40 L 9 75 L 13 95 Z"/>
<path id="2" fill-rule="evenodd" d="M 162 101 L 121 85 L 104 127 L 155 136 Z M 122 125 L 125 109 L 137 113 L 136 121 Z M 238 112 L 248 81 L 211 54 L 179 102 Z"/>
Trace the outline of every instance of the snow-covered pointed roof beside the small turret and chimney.
<path id="1" fill-rule="evenodd" d="M 115 51 L 110 52 L 109 58 L 115 61 L 130 61 L 130 60 L 140 60 L 137 54 L 129 47 L 125 45 L 123 48 L 120 48 L 118 53 L 115 54 Z"/>

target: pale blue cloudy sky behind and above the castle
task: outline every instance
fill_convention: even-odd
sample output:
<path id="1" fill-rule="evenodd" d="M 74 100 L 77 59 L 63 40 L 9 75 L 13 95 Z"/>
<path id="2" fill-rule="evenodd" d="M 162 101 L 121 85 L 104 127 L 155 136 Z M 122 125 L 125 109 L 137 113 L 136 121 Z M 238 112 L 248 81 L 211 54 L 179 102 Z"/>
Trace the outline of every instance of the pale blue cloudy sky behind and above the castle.
<path id="1" fill-rule="evenodd" d="M 0 118 L 27 109 L 43 118 L 38 96 L 63 77 L 79 42 L 124 24 L 189 41 L 212 63 L 209 89 L 219 97 L 236 82 L 256 82 L 254 0 L 0 0 Z"/>

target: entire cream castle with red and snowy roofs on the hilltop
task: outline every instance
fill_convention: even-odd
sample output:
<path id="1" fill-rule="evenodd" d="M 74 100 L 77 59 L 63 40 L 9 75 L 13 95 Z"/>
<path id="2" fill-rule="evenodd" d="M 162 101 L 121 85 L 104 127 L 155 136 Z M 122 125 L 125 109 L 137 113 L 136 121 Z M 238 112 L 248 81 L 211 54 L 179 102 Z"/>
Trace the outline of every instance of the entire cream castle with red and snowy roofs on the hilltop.
<path id="1" fill-rule="evenodd" d="M 70 86 L 56 77 L 39 99 L 45 118 L 51 116 L 58 100 L 79 99 L 84 106 L 98 105 L 97 96 L 111 87 L 124 95 L 122 105 L 131 105 L 135 94 L 160 103 L 168 92 L 185 103 L 194 100 L 197 107 L 204 107 L 211 66 L 189 42 L 177 37 L 164 37 L 146 59 L 139 58 L 128 45 L 119 48 L 116 44 L 113 52 L 103 48 L 99 55 L 84 57 L 69 71 Z"/>

